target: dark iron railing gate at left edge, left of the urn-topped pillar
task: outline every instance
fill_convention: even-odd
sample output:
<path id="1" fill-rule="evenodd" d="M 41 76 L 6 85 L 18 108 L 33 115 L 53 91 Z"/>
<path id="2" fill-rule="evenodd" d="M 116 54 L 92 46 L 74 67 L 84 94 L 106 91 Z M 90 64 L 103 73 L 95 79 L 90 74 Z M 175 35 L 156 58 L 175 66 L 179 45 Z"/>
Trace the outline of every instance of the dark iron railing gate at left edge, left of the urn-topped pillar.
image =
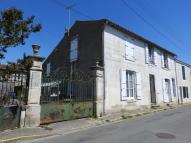
<path id="1" fill-rule="evenodd" d="M 21 108 L 27 103 L 28 73 L 0 70 L 0 130 L 19 127 Z"/>

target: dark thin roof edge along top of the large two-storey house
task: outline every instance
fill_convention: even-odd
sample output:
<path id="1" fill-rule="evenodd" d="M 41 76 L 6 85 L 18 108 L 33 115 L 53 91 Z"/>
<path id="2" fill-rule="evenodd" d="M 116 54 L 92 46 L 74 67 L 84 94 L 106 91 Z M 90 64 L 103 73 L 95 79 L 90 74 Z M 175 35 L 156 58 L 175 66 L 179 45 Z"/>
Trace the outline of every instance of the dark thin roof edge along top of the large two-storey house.
<path id="1" fill-rule="evenodd" d="M 169 53 L 169 54 L 171 54 L 173 56 L 176 56 L 175 53 L 167 50 L 166 48 L 163 48 L 163 47 L 159 46 L 158 44 L 156 44 L 156 43 L 154 43 L 154 42 L 152 42 L 152 41 L 150 41 L 150 40 L 148 40 L 146 38 L 143 38 L 142 36 L 140 36 L 138 34 L 135 34 L 134 32 L 131 32 L 131 31 L 127 30 L 126 28 L 124 28 L 124 27 L 122 27 L 122 26 L 120 26 L 120 25 L 118 25 L 118 24 L 116 24 L 116 23 L 114 23 L 114 22 L 112 22 L 112 21 L 110 21 L 108 19 L 91 20 L 91 21 L 77 21 L 77 22 L 85 22 L 85 23 L 86 22 L 87 23 L 88 22 L 90 22 L 90 23 L 92 23 L 92 22 L 96 23 L 97 22 L 97 23 L 101 23 L 101 24 L 104 24 L 104 25 L 109 25 L 109 26 L 111 26 L 111 27 L 113 27 L 113 28 L 115 28 L 115 29 L 127 34 L 127 35 L 130 35 L 130 36 L 132 36 L 132 37 L 134 37 L 134 38 L 136 38 L 138 40 L 141 40 L 141 41 L 143 41 L 145 43 L 148 43 L 149 45 L 151 45 L 153 47 L 156 47 L 156 48 L 158 48 L 158 49 L 160 49 L 162 51 L 165 51 L 165 52 L 167 52 L 167 53 Z"/>

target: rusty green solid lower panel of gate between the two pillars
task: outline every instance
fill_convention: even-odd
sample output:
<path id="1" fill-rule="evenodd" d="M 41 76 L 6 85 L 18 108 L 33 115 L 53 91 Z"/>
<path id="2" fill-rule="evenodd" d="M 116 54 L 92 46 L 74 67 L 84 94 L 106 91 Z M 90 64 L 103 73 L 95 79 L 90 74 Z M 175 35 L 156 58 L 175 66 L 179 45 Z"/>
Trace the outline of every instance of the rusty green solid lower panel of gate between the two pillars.
<path id="1" fill-rule="evenodd" d="M 93 102 L 41 104 L 40 123 L 47 124 L 93 116 Z"/>

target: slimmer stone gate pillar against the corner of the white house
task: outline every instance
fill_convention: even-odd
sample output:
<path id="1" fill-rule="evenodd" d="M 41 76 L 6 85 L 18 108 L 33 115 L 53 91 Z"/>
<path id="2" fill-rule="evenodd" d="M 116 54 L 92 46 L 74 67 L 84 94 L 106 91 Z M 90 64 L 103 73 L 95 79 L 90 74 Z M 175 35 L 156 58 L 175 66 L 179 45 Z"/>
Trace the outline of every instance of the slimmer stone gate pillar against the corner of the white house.
<path id="1" fill-rule="evenodd" d="M 96 117 L 101 117 L 104 114 L 104 72 L 103 67 L 99 66 L 99 62 L 96 62 L 96 66 L 91 67 L 94 76 L 94 109 Z"/>

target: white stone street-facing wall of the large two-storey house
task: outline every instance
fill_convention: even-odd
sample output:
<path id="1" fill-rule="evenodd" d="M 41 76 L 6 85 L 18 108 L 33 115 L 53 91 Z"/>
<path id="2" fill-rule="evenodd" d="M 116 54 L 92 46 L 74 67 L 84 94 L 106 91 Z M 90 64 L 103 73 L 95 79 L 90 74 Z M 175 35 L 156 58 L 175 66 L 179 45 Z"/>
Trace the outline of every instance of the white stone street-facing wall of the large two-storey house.
<path id="1" fill-rule="evenodd" d="M 104 30 L 104 69 L 105 69 L 105 110 L 106 113 L 129 109 L 133 105 L 150 106 L 150 83 L 149 74 L 155 75 L 157 103 L 163 104 L 163 78 L 175 78 L 175 64 L 170 70 L 161 67 L 161 51 L 157 49 L 157 66 L 148 65 L 145 62 L 145 43 L 136 39 L 134 42 L 135 61 L 125 59 L 125 35 L 124 33 L 106 26 Z M 130 37 L 130 36 L 128 36 Z M 130 37 L 130 39 L 133 39 Z M 141 73 L 142 77 L 142 100 L 134 102 L 121 101 L 120 70 L 132 70 Z M 175 78 L 176 79 L 176 78 Z M 126 108 L 126 109 L 128 109 Z"/>

